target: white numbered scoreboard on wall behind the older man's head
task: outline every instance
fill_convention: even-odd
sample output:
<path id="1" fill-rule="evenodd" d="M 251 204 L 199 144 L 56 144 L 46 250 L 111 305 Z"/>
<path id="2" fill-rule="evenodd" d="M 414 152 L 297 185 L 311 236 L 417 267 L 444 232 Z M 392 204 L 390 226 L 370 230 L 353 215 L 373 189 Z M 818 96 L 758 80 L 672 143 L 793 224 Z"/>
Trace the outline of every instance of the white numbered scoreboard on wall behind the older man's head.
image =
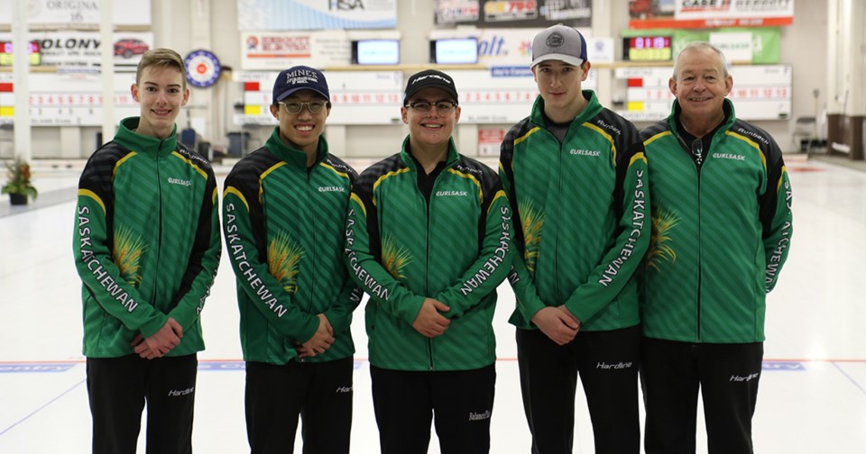
<path id="1" fill-rule="evenodd" d="M 652 122 L 670 114 L 674 95 L 668 88 L 673 68 L 618 68 L 615 77 L 626 79 L 626 109 L 619 111 L 632 122 Z M 791 118 L 790 65 L 734 66 L 730 69 L 737 118 L 788 120 Z"/>

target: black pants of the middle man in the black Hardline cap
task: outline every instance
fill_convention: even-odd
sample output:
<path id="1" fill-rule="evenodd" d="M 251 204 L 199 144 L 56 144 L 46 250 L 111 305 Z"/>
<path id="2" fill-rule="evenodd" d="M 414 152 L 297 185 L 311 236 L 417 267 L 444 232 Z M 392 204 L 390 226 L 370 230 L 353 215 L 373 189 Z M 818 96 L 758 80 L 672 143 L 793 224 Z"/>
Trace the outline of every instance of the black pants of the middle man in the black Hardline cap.
<path id="1" fill-rule="evenodd" d="M 430 422 L 442 454 L 490 452 L 496 368 L 411 372 L 370 368 L 382 454 L 427 454 Z"/>

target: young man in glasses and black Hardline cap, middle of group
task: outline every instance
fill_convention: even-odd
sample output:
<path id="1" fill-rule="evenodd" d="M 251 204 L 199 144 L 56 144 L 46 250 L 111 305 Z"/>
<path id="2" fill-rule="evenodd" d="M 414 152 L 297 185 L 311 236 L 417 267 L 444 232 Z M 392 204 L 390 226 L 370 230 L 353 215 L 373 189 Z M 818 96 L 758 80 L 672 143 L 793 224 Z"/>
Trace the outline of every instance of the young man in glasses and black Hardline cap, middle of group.
<path id="1" fill-rule="evenodd" d="M 402 149 L 358 177 L 346 261 L 370 295 L 373 407 L 382 453 L 490 450 L 496 286 L 511 268 L 511 213 L 496 173 L 457 153 L 454 80 L 409 77 Z"/>

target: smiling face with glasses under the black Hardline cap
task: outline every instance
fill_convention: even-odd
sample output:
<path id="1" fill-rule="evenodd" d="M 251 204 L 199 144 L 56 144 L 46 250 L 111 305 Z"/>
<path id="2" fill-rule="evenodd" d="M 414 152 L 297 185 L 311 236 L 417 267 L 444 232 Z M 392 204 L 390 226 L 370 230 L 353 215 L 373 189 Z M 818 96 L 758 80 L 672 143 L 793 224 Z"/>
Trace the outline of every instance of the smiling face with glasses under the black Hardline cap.
<path id="1" fill-rule="evenodd" d="M 422 88 L 407 100 L 406 104 L 428 102 L 436 104 L 439 102 L 457 102 L 445 90 L 439 88 Z M 420 113 L 417 109 L 403 106 L 400 108 L 403 123 L 409 125 L 410 143 L 412 146 L 419 145 L 421 148 L 433 148 L 446 146 L 454 131 L 454 125 L 460 120 L 460 106 L 457 105 L 451 112 L 444 114 L 438 109 L 431 108 L 428 113 Z M 414 150 L 414 148 L 413 148 Z"/>

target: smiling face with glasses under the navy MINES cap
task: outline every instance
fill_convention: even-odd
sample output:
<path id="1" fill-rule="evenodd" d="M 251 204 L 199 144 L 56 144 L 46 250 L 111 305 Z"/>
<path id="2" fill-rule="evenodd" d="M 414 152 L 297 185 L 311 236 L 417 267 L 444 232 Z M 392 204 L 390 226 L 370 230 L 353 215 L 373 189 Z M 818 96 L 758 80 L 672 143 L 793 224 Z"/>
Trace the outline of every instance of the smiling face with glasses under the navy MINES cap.
<path id="1" fill-rule="evenodd" d="M 325 119 L 331 114 L 330 107 L 313 114 L 309 111 L 309 105 L 303 104 L 299 113 L 289 114 L 283 104 L 327 103 L 327 99 L 311 90 L 300 90 L 280 103 L 271 104 L 271 114 L 280 122 L 280 138 L 290 147 L 315 156 L 318 136 L 325 131 Z"/>

